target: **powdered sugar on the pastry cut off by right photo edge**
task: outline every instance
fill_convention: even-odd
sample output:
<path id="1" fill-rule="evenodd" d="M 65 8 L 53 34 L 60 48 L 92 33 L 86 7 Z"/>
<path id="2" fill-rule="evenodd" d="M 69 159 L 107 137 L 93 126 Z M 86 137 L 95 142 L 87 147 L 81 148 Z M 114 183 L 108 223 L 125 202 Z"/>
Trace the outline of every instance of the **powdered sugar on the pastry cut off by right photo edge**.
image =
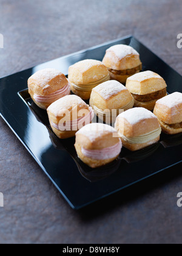
<path id="1" fill-rule="evenodd" d="M 175 107 L 178 104 L 182 104 L 182 93 L 176 92 L 176 93 L 169 94 L 166 97 L 159 99 L 157 103 L 165 105 L 166 107 L 169 107 L 169 108 Z"/>

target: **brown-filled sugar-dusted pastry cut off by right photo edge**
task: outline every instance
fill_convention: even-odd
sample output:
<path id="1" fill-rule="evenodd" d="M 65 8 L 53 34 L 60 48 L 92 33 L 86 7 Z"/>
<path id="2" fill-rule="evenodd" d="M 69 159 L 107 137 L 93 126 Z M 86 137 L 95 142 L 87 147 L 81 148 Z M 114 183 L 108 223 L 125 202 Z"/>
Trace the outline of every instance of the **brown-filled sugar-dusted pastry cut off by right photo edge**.
<path id="1" fill-rule="evenodd" d="M 182 132 L 182 93 L 172 93 L 156 102 L 153 113 L 164 133 Z"/>

